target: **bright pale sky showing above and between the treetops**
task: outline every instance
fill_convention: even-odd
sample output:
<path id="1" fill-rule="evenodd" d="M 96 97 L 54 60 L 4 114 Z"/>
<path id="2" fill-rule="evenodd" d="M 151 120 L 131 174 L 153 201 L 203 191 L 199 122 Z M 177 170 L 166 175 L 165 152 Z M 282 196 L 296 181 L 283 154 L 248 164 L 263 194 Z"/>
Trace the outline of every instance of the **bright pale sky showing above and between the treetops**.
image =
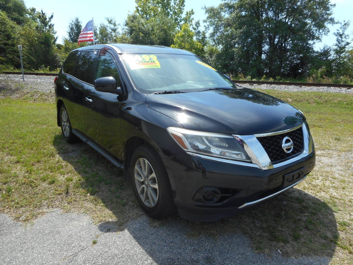
<path id="1" fill-rule="evenodd" d="M 185 0 L 185 11 L 193 9 L 195 12 L 195 20 L 202 20 L 206 18 L 205 12 L 202 9 L 203 6 L 216 6 L 221 0 Z M 336 20 L 342 22 L 343 20 L 352 19 L 353 11 L 353 0 L 331 0 L 332 3 L 336 4 L 333 10 L 333 17 Z M 58 36 L 58 43 L 62 43 L 62 39 L 67 36 L 67 27 L 70 23 L 70 19 L 79 17 L 84 25 L 94 17 L 94 24 L 99 25 L 105 22 L 105 17 L 114 17 L 116 22 L 123 24 L 127 14 L 133 12 L 135 9 L 134 0 L 125 1 L 112 1 L 105 0 L 104 4 L 98 4 L 97 1 L 86 0 L 86 1 L 72 1 L 72 0 L 61 0 L 61 1 L 48 1 L 48 0 L 25 0 L 27 7 L 35 7 L 37 10 L 43 9 L 47 14 L 54 13 L 53 23 L 54 29 L 56 30 L 56 36 Z M 329 26 L 330 33 L 328 36 L 323 36 L 322 42 L 316 44 L 315 48 L 318 49 L 324 44 L 333 45 L 335 43 L 335 36 L 333 33 L 339 25 Z M 347 33 L 353 37 L 353 22 L 348 28 Z"/>

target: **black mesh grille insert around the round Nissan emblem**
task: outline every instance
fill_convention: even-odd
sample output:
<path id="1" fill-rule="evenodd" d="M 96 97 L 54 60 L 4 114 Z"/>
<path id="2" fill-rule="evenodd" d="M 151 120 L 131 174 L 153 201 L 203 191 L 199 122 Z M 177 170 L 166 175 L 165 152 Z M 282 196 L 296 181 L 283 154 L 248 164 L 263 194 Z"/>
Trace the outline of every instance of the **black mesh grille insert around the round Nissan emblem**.
<path id="1" fill-rule="evenodd" d="M 282 141 L 286 136 L 290 137 L 293 141 L 293 150 L 290 153 L 286 153 L 282 148 Z M 265 149 L 272 164 L 280 163 L 295 157 L 304 151 L 304 137 L 302 127 L 282 134 L 257 137 L 257 140 Z"/>

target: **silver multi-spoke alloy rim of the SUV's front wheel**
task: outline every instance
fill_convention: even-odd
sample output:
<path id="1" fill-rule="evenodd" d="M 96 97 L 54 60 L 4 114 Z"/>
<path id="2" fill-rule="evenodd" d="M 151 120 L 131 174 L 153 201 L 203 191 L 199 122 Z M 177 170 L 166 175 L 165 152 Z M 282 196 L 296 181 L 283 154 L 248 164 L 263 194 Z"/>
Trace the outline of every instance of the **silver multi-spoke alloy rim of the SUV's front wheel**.
<path id="1" fill-rule="evenodd" d="M 154 207 L 158 201 L 158 183 L 156 174 L 147 159 L 137 159 L 134 176 L 137 193 L 141 200 L 146 206 Z"/>

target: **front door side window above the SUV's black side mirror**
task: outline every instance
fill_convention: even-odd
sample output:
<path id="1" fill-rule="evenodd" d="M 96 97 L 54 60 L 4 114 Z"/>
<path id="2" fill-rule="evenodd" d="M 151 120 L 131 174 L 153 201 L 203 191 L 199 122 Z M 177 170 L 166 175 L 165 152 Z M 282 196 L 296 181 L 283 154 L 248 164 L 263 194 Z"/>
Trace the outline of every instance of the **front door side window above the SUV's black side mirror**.
<path id="1" fill-rule="evenodd" d="M 112 76 L 115 78 L 116 85 L 121 87 L 118 69 L 116 69 L 113 58 L 106 52 L 101 51 L 96 67 L 94 80 L 100 77 Z"/>

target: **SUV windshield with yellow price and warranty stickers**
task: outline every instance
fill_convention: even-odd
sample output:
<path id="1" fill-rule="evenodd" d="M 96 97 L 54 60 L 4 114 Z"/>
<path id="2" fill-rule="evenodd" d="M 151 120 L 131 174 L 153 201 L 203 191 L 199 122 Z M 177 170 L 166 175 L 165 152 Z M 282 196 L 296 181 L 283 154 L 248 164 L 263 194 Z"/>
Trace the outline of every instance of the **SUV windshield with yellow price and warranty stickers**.
<path id="1" fill-rule="evenodd" d="M 195 55 L 123 54 L 122 60 L 135 88 L 142 93 L 235 88 L 221 72 Z"/>

